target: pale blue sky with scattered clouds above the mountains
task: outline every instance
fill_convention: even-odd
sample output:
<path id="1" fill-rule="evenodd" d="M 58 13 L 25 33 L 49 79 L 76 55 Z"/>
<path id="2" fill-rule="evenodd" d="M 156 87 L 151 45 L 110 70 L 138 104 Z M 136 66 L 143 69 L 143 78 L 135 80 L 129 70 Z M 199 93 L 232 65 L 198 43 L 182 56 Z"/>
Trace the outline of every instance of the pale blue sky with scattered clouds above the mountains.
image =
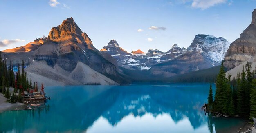
<path id="1" fill-rule="evenodd" d="M 187 48 L 197 34 L 233 42 L 255 8 L 256 0 L 0 0 L 0 50 L 48 36 L 69 17 L 99 50 L 112 39 L 145 53 Z"/>

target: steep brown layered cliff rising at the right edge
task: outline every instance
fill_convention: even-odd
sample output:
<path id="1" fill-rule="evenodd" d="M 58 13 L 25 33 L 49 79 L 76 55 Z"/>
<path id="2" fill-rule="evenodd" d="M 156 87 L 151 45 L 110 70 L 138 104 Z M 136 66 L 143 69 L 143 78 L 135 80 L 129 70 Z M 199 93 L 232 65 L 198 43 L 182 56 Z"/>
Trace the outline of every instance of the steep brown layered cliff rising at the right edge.
<path id="1" fill-rule="evenodd" d="M 240 34 L 240 38 L 230 45 L 223 64 L 227 69 L 233 69 L 254 55 L 256 55 L 256 9 L 252 12 L 252 23 Z"/>

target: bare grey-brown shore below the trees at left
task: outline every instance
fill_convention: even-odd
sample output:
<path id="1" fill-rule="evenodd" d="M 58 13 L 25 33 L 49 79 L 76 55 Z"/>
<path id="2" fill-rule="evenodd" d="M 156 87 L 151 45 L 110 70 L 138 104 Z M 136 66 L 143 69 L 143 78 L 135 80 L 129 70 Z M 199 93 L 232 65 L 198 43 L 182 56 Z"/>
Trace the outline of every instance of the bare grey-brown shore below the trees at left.
<path id="1" fill-rule="evenodd" d="M 4 111 L 11 111 L 15 109 L 24 109 L 26 105 L 24 103 L 9 103 L 6 102 L 6 98 L 4 97 L 4 94 L 0 93 L 0 113 Z"/>

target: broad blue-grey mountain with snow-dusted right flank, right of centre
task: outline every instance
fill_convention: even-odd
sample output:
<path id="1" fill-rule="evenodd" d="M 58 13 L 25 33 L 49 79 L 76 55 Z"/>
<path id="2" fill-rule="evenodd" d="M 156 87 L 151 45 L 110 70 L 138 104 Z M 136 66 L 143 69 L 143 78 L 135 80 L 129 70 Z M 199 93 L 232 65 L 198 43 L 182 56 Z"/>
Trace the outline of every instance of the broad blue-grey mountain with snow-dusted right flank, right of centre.
<path id="1" fill-rule="evenodd" d="M 149 71 L 156 76 L 171 77 L 218 66 L 225 57 L 229 45 L 230 42 L 222 37 L 196 35 L 187 50 L 183 51 L 174 45 L 170 51 L 183 52 L 179 52 L 172 60 L 156 64 Z"/>

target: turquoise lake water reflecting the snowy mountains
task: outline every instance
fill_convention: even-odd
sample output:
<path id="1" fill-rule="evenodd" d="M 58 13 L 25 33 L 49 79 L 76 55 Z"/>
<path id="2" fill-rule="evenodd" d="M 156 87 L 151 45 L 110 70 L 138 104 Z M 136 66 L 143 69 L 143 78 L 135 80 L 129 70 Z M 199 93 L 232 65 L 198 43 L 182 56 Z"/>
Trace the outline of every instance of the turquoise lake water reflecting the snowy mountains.
<path id="1" fill-rule="evenodd" d="M 213 91 L 215 86 L 213 85 Z M 201 110 L 209 84 L 46 87 L 44 108 L 0 113 L 0 132 L 227 133 L 244 121 Z"/>

